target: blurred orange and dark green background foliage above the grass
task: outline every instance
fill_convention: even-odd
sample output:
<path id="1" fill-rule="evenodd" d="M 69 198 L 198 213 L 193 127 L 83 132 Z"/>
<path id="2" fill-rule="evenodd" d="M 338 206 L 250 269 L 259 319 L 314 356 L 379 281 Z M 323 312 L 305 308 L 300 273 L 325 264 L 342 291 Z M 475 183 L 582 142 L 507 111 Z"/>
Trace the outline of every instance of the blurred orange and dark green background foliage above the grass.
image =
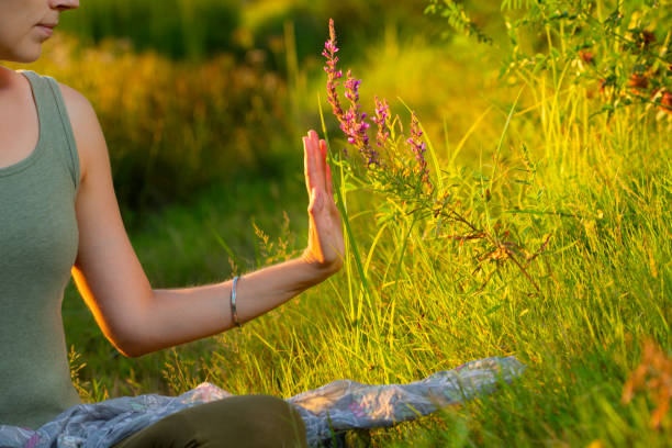
<path id="1" fill-rule="evenodd" d="M 189 201 L 213 183 L 301 172 L 299 136 L 320 123 L 329 18 L 344 43 L 344 67 L 367 67 L 365 103 L 376 93 L 394 107 L 402 96 L 427 116 L 432 133 L 460 138 L 481 111 L 452 104 L 469 98 L 486 107 L 495 71 L 472 65 L 479 71 L 456 82 L 456 72 L 470 69 L 467 58 L 489 57 L 488 48 L 462 38 L 448 55 L 450 34 L 424 7 L 423 0 L 394 8 L 382 0 L 90 0 L 63 14 L 43 57 L 22 68 L 54 76 L 91 101 L 134 226 L 146 212 Z M 472 13 L 496 10 L 474 3 Z"/>

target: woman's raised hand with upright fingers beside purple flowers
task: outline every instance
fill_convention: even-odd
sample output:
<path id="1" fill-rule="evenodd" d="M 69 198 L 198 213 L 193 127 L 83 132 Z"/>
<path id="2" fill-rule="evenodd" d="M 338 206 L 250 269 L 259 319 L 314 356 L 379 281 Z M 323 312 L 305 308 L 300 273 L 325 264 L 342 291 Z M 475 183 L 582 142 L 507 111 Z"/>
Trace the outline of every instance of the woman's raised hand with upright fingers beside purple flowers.
<path id="1" fill-rule="evenodd" d="M 305 187 L 309 192 L 309 244 L 302 258 L 324 275 L 343 266 L 345 245 L 340 214 L 334 203 L 326 142 L 315 131 L 303 137 Z"/>

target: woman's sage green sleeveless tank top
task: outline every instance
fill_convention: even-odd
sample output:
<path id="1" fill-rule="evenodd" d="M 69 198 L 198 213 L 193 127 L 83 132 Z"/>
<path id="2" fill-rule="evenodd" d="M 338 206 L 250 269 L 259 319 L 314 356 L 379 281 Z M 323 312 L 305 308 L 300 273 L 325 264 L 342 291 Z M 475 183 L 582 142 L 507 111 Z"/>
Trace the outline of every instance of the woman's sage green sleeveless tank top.
<path id="1" fill-rule="evenodd" d="M 80 403 L 60 316 L 79 239 L 79 158 L 58 83 L 20 72 L 40 137 L 29 157 L 0 168 L 0 424 L 36 429 Z"/>

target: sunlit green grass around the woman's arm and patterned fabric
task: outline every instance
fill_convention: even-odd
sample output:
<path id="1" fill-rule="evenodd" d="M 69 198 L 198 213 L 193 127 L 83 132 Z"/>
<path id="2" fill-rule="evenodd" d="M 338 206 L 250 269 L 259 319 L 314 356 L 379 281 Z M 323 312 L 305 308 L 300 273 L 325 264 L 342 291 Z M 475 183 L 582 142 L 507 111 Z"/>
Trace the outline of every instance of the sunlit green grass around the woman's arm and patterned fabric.
<path id="1" fill-rule="evenodd" d="M 287 397 L 340 378 L 407 382 L 515 355 L 528 369 L 509 387 L 360 438 L 394 447 L 670 446 L 669 415 L 660 429 L 649 427 L 653 395 L 621 402 L 642 343 L 654 340 L 668 356 L 672 347 L 669 119 L 638 108 L 589 119 L 595 104 L 585 89 L 542 83 L 539 75 L 504 133 L 519 87 L 496 83 L 488 55 L 460 40 L 450 57 L 425 43 L 385 42 L 370 52 L 388 57 L 357 68 L 370 86 L 362 97 L 382 90 L 422 108 L 444 184 L 471 201 L 474 219 L 507 223 L 531 249 L 550 235 L 529 278 L 507 260 L 478 264 L 474 244 L 436 237 L 432 221 L 395 212 L 403 204 L 390 197 L 344 190 L 355 238 L 348 244 L 359 249 L 369 291 L 349 251 L 339 275 L 239 331 L 128 360 L 102 338 L 70 285 L 64 318 L 68 344 L 87 363 L 79 373 L 89 397 L 105 390 L 177 394 L 205 380 L 233 393 Z M 418 88 L 425 77 L 434 79 L 432 92 Z M 302 120 L 312 116 L 318 127 L 315 97 L 305 94 Z M 339 136 L 329 136 L 339 148 Z M 153 285 L 226 278 L 228 255 L 211 228 L 251 260 L 243 269 L 282 259 L 277 239 L 273 248 L 253 244 L 250 216 L 276 237 L 288 209 L 296 235 L 289 248 L 301 247 L 306 200 L 300 157 L 291 157 L 296 175 L 276 187 L 267 179 L 213 187 L 134 231 Z"/>

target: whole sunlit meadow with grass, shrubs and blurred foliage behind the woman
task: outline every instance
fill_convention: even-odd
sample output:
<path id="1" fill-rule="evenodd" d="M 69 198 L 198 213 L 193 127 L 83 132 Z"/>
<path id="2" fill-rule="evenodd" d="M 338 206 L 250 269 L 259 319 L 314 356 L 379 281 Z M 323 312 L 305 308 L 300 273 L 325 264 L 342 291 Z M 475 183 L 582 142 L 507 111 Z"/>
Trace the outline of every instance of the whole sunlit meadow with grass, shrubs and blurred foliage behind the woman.
<path id="1" fill-rule="evenodd" d="M 240 329 L 137 359 L 112 348 L 70 283 L 63 315 L 85 400 L 202 381 L 287 397 L 514 355 L 527 370 L 512 384 L 348 444 L 670 446 L 669 2 L 168 3 L 181 22 L 134 35 L 119 30 L 159 2 L 91 0 L 30 67 L 97 109 L 153 287 L 296 255 L 309 127 L 329 138 L 347 256 Z M 195 31 L 208 8 L 228 34 Z M 362 110 L 389 100 L 388 139 L 369 132 L 381 168 L 332 114 L 329 16 Z"/>

